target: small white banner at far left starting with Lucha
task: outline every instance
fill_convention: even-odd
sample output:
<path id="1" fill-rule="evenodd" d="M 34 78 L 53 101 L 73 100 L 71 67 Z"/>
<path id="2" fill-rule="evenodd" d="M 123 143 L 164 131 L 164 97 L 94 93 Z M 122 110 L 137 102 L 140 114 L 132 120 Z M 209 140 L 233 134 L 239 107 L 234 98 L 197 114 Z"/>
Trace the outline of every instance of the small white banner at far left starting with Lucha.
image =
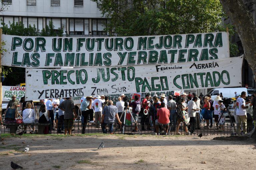
<path id="1" fill-rule="evenodd" d="M 16 95 L 17 100 L 20 100 L 25 95 L 26 87 L 20 86 L 2 86 L 3 101 L 7 102 L 12 100 L 12 96 Z"/>

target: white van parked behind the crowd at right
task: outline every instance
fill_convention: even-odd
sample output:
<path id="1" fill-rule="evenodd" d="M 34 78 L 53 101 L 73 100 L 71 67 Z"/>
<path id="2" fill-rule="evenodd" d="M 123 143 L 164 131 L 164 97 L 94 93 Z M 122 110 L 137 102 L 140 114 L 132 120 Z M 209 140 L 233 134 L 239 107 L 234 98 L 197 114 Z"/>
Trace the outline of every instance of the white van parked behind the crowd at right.
<path id="1" fill-rule="evenodd" d="M 225 98 L 235 98 L 235 92 L 237 95 L 241 95 L 242 92 L 247 93 L 247 88 L 245 87 L 239 87 L 239 88 L 217 88 L 210 90 L 207 94 L 211 95 L 212 100 L 214 100 L 217 97 L 217 94 L 222 93 L 223 97 Z"/>

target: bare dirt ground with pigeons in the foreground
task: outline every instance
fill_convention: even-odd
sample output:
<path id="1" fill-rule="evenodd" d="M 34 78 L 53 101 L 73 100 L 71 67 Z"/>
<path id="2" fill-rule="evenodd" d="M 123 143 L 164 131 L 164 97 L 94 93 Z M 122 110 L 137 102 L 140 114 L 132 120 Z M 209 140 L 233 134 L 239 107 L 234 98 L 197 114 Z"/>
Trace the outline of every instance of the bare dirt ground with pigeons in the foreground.
<path id="1" fill-rule="evenodd" d="M 0 169 L 254 169 L 255 140 L 220 141 L 215 136 L 27 135 L 4 137 Z M 98 150 L 104 141 L 105 148 Z M 2 143 L 3 142 L 3 143 Z M 29 145 L 29 152 L 22 152 Z"/>

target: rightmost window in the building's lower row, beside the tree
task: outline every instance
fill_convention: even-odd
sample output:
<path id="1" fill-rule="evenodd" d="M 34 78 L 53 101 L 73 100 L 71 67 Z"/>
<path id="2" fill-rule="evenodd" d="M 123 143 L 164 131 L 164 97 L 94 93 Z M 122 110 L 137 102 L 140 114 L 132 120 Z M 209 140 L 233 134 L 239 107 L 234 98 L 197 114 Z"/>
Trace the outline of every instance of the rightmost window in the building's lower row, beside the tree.
<path id="1" fill-rule="evenodd" d="M 107 32 L 103 31 L 106 24 L 107 24 L 106 19 L 93 19 L 92 35 L 107 35 Z"/>

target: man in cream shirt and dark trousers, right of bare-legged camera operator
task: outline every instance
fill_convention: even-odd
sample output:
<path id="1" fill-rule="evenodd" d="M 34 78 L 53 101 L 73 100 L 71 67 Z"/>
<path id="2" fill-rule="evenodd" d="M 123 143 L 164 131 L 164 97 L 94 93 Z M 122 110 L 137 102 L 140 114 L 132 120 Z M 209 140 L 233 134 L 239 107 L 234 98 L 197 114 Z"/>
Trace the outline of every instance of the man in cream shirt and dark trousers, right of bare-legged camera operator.
<path id="1" fill-rule="evenodd" d="M 196 111 L 199 111 L 199 108 L 196 106 L 197 97 L 193 97 L 193 99 L 188 103 L 188 116 L 190 118 L 190 133 L 194 133 L 196 127 Z"/>

